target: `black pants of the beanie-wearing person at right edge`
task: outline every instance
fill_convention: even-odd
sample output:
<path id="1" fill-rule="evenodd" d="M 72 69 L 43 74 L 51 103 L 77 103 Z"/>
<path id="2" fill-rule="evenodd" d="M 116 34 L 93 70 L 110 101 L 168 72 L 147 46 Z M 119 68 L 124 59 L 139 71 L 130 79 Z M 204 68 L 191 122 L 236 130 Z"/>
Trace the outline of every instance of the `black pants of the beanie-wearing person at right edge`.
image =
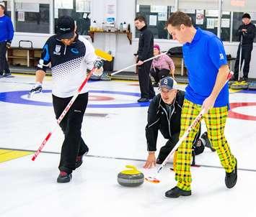
<path id="1" fill-rule="evenodd" d="M 234 65 L 234 78 L 237 80 L 239 73 L 239 57 L 240 57 L 240 45 L 237 50 L 237 59 Z M 242 45 L 242 58 L 241 58 L 241 66 L 244 62 L 244 78 L 248 78 L 248 73 L 250 70 L 250 61 L 251 61 L 251 53 L 252 53 L 252 45 Z"/>

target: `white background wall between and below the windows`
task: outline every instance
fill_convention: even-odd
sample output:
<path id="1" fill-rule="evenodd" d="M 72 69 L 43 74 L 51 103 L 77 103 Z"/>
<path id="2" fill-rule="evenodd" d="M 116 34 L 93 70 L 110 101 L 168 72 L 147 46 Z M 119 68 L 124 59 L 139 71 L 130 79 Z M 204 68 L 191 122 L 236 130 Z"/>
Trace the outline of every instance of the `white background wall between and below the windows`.
<path id="1" fill-rule="evenodd" d="M 112 2 L 112 1 L 111 1 Z M 114 70 L 120 70 L 126 68 L 128 65 L 134 64 L 133 53 L 137 51 L 138 39 L 135 39 L 135 29 L 133 25 L 133 19 L 136 14 L 136 1 L 121 1 L 117 2 L 117 24 L 120 22 L 126 22 L 131 24 L 131 31 L 133 32 L 132 45 L 129 44 L 128 39 L 125 34 L 104 34 L 96 33 L 94 34 L 94 47 L 101 50 L 111 50 L 112 55 L 115 56 Z M 98 23 L 102 23 L 105 17 L 105 5 L 107 0 L 93 0 L 92 1 L 92 20 L 96 20 Z M 47 40 L 50 34 L 27 34 L 16 32 L 14 35 L 14 40 L 12 45 L 17 46 L 19 40 L 31 40 L 34 47 L 43 47 L 43 44 Z M 177 42 L 172 40 L 155 40 L 162 50 L 168 50 L 170 47 L 178 46 Z M 232 57 L 237 55 L 238 42 L 230 43 L 224 42 L 224 46 L 227 54 L 231 54 Z M 134 68 L 131 68 L 133 71 Z M 254 44 L 254 49 L 252 50 L 252 60 L 250 63 L 250 78 L 256 78 L 256 43 Z"/>

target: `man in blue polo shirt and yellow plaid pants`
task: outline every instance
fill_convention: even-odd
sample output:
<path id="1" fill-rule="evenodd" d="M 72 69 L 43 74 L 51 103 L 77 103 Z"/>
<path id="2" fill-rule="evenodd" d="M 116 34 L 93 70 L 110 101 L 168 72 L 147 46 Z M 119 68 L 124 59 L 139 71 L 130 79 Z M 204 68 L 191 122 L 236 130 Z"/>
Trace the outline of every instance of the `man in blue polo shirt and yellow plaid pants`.
<path id="1" fill-rule="evenodd" d="M 229 89 L 225 85 L 229 67 L 224 45 L 215 34 L 193 27 L 190 17 L 181 11 L 169 17 L 167 29 L 172 38 L 183 45 L 189 80 L 182 107 L 180 137 L 204 108 L 203 119 L 206 121 L 208 138 L 226 170 L 226 187 L 233 188 L 237 183 L 237 159 L 231 154 L 224 136 L 229 109 Z M 199 124 L 190 131 L 175 152 L 177 186 L 165 193 L 169 198 L 191 195 L 191 148 L 198 127 Z"/>

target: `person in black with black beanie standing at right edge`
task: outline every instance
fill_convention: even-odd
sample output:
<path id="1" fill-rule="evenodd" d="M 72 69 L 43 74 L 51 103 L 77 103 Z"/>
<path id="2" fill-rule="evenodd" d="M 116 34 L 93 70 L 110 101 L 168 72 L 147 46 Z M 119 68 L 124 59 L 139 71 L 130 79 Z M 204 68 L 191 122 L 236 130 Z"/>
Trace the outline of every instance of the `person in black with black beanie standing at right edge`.
<path id="1" fill-rule="evenodd" d="M 239 74 L 239 59 L 240 59 L 240 49 L 242 43 L 242 57 L 241 63 L 242 65 L 244 61 L 244 70 L 243 70 L 243 80 L 248 79 L 248 73 L 250 70 L 250 61 L 251 61 L 251 53 L 253 47 L 253 40 L 255 38 L 256 27 L 255 24 L 252 24 L 250 14 L 244 14 L 242 17 L 243 24 L 239 26 L 236 35 L 239 36 L 239 47 L 237 50 L 237 60 L 234 65 L 234 79 L 238 80 Z M 242 40 L 242 41 L 241 41 Z"/>

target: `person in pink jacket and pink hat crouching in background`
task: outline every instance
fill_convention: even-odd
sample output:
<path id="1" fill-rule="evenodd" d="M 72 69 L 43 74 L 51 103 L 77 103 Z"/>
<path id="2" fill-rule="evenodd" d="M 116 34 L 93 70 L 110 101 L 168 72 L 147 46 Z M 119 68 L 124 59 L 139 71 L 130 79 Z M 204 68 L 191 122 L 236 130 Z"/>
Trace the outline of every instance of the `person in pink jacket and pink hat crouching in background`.
<path id="1" fill-rule="evenodd" d="M 154 45 L 154 56 L 161 53 L 159 45 Z M 168 55 L 156 57 L 151 64 L 150 74 L 154 78 L 154 87 L 158 87 L 159 80 L 172 75 L 175 75 L 175 64 Z"/>

